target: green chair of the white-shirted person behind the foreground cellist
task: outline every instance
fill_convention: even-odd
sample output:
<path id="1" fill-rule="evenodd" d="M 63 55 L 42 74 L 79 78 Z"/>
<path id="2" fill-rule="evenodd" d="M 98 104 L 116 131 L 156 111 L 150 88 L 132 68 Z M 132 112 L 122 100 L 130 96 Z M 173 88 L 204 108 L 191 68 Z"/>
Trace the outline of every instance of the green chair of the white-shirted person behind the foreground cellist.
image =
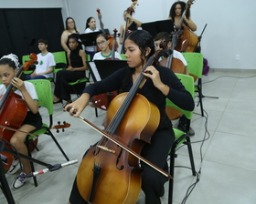
<path id="1" fill-rule="evenodd" d="M 198 93 L 199 104 L 201 109 L 201 116 L 204 117 L 203 108 L 203 94 L 202 94 L 202 75 L 203 75 L 203 60 L 204 56 L 201 53 L 182 53 L 187 61 L 187 69 L 189 75 L 196 76 L 198 78 L 197 85 L 195 85 L 195 91 Z"/>

